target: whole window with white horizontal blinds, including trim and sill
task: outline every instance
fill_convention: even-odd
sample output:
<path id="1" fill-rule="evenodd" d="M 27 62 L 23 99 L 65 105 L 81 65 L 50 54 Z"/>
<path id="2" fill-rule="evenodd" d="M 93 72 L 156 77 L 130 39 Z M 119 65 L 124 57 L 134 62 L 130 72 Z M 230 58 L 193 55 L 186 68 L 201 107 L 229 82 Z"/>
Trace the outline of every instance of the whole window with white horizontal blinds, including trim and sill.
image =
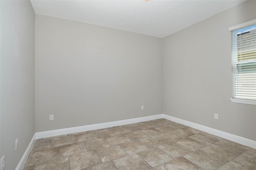
<path id="1" fill-rule="evenodd" d="M 256 20 L 229 29 L 232 35 L 232 102 L 256 105 Z"/>

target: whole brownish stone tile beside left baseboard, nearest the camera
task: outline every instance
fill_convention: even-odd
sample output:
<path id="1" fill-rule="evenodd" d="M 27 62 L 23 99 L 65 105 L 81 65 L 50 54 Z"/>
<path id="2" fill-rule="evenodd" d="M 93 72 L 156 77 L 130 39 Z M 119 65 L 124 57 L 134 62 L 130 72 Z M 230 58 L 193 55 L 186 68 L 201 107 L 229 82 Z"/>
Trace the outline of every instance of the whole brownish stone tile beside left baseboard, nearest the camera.
<path id="1" fill-rule="evenodd" d="M 33 153 L 30 153 L 26 166 L 42 164 L 51 159 L 57 159 L 60 157 L 60 148 L 49 148 L 44 150 L 38 150 Z"/>

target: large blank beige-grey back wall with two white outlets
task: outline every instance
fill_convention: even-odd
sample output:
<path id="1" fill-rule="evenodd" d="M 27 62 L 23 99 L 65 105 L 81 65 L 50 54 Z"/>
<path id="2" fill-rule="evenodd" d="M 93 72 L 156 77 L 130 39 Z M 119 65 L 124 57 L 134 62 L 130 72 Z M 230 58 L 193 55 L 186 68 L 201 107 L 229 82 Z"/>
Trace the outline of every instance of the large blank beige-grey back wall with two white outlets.
<path id="1" fill-rule="evenodd" d="M 35 51 L 36 132 L 162 113 L 161 38 L 36 15 Z"/>

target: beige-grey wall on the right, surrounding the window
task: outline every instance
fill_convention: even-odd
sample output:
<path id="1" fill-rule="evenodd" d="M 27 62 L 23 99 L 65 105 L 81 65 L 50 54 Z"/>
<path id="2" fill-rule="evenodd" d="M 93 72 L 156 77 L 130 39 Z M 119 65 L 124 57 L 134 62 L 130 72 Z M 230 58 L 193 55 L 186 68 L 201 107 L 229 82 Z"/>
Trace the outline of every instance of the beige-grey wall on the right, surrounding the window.
<path id="1" fill-rule="evenodd" d="M 256 1 L 246 1 L 164 38 L 164 114 L 256 140 L 256 106 L 230 101 L 228 31 L 230 26 L 255 19 L 255 9 Z"/>

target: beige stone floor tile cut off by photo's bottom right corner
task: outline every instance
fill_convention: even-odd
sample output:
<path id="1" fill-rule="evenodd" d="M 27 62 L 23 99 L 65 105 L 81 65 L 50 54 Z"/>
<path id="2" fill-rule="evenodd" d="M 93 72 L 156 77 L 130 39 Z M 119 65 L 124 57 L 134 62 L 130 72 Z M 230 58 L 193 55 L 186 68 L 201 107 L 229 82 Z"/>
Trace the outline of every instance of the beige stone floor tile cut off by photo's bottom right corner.
<path id="1" fill-rule="evenodd" d="M 256 155 L 243 153 L 234 158 L 233 161 L 245 166 L 246 168 L 256 170 Z"/>

